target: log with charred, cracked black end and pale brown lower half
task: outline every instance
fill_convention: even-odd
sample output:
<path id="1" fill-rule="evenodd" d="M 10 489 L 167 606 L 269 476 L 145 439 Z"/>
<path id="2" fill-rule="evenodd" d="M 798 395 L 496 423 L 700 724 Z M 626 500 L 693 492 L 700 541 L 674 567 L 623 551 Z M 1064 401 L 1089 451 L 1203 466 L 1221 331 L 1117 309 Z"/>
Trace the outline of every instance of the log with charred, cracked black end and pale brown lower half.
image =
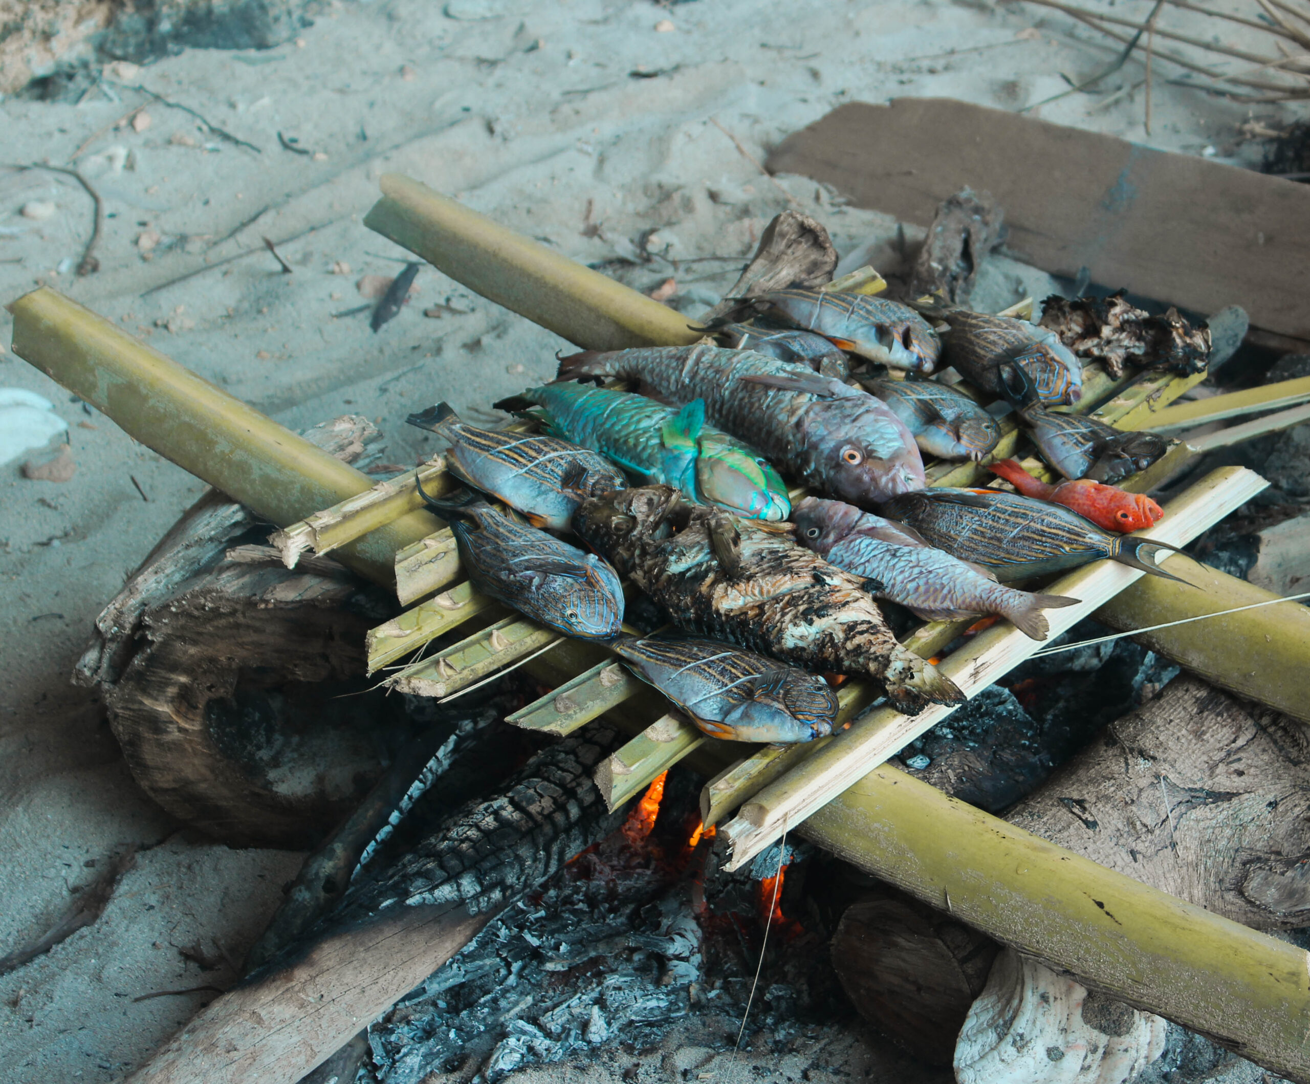
<path id="1" fill-rule="evenodd" d="M 292 1084 L 455 956 L 506 904 L 624 819 L 592 781 L 620 742 L 599 724 L 548 746 L 498 797 L 473 802 L 304 942 L 212 1001 L 132 1084 Z"/>

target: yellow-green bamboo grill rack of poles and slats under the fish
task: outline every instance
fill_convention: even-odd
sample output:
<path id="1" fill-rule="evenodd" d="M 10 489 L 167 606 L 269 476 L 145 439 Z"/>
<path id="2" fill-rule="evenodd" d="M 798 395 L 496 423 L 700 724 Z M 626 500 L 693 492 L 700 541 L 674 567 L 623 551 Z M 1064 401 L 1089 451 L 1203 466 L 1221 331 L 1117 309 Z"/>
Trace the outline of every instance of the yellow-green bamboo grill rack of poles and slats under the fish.
<path id="1" fill-rule="evenodd" d="M 493 300 L 524 315 L 540 312 L 541 294 L 524 269 L 533 271 L 536 267 L 549 277 L 555 273 L 559 257 L 407 178 L 384 177 L 383 189 L 386 198 L 369 214 L 369 225 L 466 284 L 481 281 L 482 286 L 474 288 Z M 553 281 L 557 295 L 562 291 L 575 301 L 578 298 L 590 300 L 580 308 L 574 305 L 575 326 L 563 320 L 555 330 L 588 347 L 685 341 L 684 320 L 671 309 L 588 269 L 562 262 L 567 265 L 565 274 Z M 541 270 L 541 265 L 552 266 Z M 601 311 L 596 312 L 597 308 Z M 371 637 L 376 665 L 385 665 L 381 662 L 384 651 L 392 651 L 392 659 L 401 658 L 419 646 L 421 637 L 430 640 L 465 621 L 472 624 L 474 617 L 483 628 L 440 653 L 444 665 L 434 667 L 439 678 L 452 687 L 468 687 L 476 678 L 464 675 L 462 670 L 478 667 L 478 672 L 495 672 L 510 661 L 506 655 L 515 653 L 519 640 L 508 629 L 520 619 L 508 616 L 460 581 L 453 549 L 445 541 L 449 535 L 435 530 L 439 520 L 418 510 L 411 481 L 406 485 L 405 478 L 392 480 L 389 488 L 371 486 L 367 476 L 337 464 L 52 290 L 34 291 L 13 303 L 10 311 L 14 313 L 13 349 L 18 357 L 105 410 L 143 443 L 280 524 L 287 537 L 305 536 L 307 528 L 299 526 L 305 520 L 312 528 L 309 548 L 321 535 L 325 549 L 341 547 L 331 549 L 339 560 L 383 582 L 392 578 L 392 562 L 386 561 L 384 568 L 384 557 L 397 558 L 397 582 L 401 573 L 409 570 L 406 562 L 413 562 L 415 570 L 426 569 L 427 581 L 414 595 L 423 599 L 419 606 L 390 623 L 394 628 L 384 625 Z M 1155 408 L 1167 405 L 1186 387 L 1186 381 L 1159 376 L 1110 381 L 1094 370 L 1089 370 L 1087 377 L 1086 400 L 1095 402 L 1108 396 L 1098 413 L 1120 426 L 1142 427 Z M 202 434 L 200 442 L 195 439 L 196 431 Z M 1017 434 L 1007 433 L 1005 440 L 1010 443 L 1002 443 L 997 455 L 1017 448 Z M 1175 446 L 1167 461 L 1136 478 L 1138 488 L 1149 488 L 1154 478 L 1166 476 L 1189 455 L 1187 444 Z M 431 472 L 435 489 L 447 484 L 438 464 L 419 469 Z M 958 485 L 972 481 L 976 472 L 972 464 L 938 465 L 933 468 L 931 480 Z M 424 488 L 427 485 L 424 481 Z M 1171 502 L 1170 515 L 1178 514 L 1182 520 L 1186 514 L 1192 519 L 1187 530 L 1195 533 L 1210 514 L 1244 499 L 1241 494 L 1250 494 L 1259 485 L 1248 472 L 1212 476 L 1200 490 L 1189 490 L 1178 503 Z M 354 533 L 355 527 L 338 532 L 334 515 L 356 527 L 363 520 L 354 515 L 341 516 L 342 510 L 331 505 L 333 501 L 354 502 L 352 509 L 371 510 L 364 518 L 375 526 L 359 535 Z M 325 505 L 331 505 L 329 514 L 318 514 Z M 1205 505 L 1210 505 L 1210 513 L 1204 511 Z M 380 514 L 379 506 L 385 506 L 386 513 Z M 1182 562 L 1186 558 L 1172 560 Z M 1090 573 L 1104 564 L 1108 562 L 1079 571 Z M 1192 573 L 1203 574 L 1207 591 L 1146 578 L 1120 590 L 1096 616 L 1133 629 L 1157 620 L 1154 615 L 1162 608 L 1171 608 L 1170 616 L 1195 616 L 1225 606 L 1273 600 L 1269 592 L 1205 566 L 1192 566 L 1184 574 Z M 1276 616 L 1271 616 L 1273 610 L 1277 610 Z M 510 624 L 503 621 L 507 616 Z M 955 638 L 962 624 L 925 625 L 908 642 L 924 654 L 934 654 Z M 1212 654 L 1207 655 L 1176 629 L 1150 634 L 1151 646 L 1180 661 L 1213 659 L 1210 668 L 1225 687 L 1306 717 L 1305 704 L 1310 703 L 1310 696 L 1306 695 L 1303 663 L 1310 658 L 1310 619 L 1303 607 L 1269 607 L 1207 624 L 1224 629 L 1225 642 L 1220 645 L 1218 657 L 1213 655 L 1213 644 L 1209 644 Z M 418 629 L 421 632 L 415 632 Z M 1271 633 L 1277 633 L 1277 642 Z M 1237 666 L 1229 665 L 1234 640 L 1264 641 L 1259 645 L 1260 651 L 1277 665 L 1267 665 L 1258 680 L 1243 686 L 1242 675 L 1235 671 L 1250 666 L 1250 661 L 1243 658 Z M 493 658 L 495 663 L 486 666 Z M 629 794 L 641 789 L 642 780 L 648 781 L 684 756 L 701 771 L 706 765 L 727 764 L 731 754 L 724 743 L 709 742 L 673 713 L 662 713 L 656 697 L 637 696 L 648 687 L 638 684 L 596 645 L 561 640 L 528 666 L 555 688 L 520 710 L 515 717 L 519 725 L 569 733 L 617 707 L 624 709 L 617 718 L 627 733 L 641 726 L 643 718 L 651 720 L 652 725 L 618 754 L 621 763 L 614 760 L 607 765 Z M 1205 670 L 1205 662 L 1195 668 Z M 992 676 L 1000 672 L 1003 670 L 998 668 Z M 875 695 L 865 683 L 845 683 L 838 691 L 844 717 L 858 714 Z M 861 727 L 823 745 L 758 751 L 747 747 L 744 760 L 728 765 L 706 788 L 703 802 L 715 819 L 751 800 L 762 805 L 769 793 L 765 788 L 803 780 L 800 771 L 810 760 L 832 762 L 829 750 L 869 729 L 865 722 Z M 1310 974 L 1305 953 L 1106 870 L 947 798 L 901 772 L 875 764 L 876 759 L 855 758 L 848 765 L 854 772 L 854 785 L 845 790 L 852 780 L 840 783 L 832 790 L 833 800 L 821 805 L 810 821 L 789 819 L 789 827 L 922 899 L 941 904 L 946 893 L 946 906 L 954 902 L 954 910 L 964 920 L 1070 970 L 1089 984 L 1187 1026 L 1229 1037 L 1262 1064 L 1310 1080 L 1310 1041 L 1306 1039 L 1310 1036 Z M 724 786 L 728 777 L 734 785 Z M 610 793 L 614 797 L 614 788 Z M 931 822 L 926 830 L 918 823 L 924 818 Z M 993 855 L 989 847 L 1010 848 L 1011 853 L 1022 856 L 1019 865 L 1013 865 L 1006 855 Z M 1081 886 L 1078 891 L 1055 893 L 1051 885 L 1061 877 Z M 1131 920 L 1124 921 L 1116 910 L 1120 918 L 1115 927 L 1104 925 L 1100 910 L 1083 906 L 1093 895 L 1107 906 L 1114 899 L 1125 910 L 1131 907 Z M 1003 906 L 998 903 L 1002 897 L 1007 900 Z M 1134 962 L 1125 970 L 1120 961 L 1128 959 Z"/>

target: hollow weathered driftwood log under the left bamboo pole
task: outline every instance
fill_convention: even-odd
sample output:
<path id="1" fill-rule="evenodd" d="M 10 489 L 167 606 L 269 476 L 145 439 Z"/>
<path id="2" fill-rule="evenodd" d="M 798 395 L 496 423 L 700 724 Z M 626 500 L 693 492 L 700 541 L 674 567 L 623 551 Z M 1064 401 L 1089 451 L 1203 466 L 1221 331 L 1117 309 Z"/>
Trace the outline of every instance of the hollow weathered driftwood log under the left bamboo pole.
<path id="1" fill-rule="evenodd" d="M 377 430 L 346 417 L 305 436 L 350 461 Z M 174 817 L 236 845 L 305 848 L 386 756 L 376 731 L 396 705 L 338 697 L 363 691 L 364 633 L 394 602 L 330 560 L 288 571 L 261 535 L 206 493 L 100 615 L 75 680 L 100 687 L 134 777 Z"/>

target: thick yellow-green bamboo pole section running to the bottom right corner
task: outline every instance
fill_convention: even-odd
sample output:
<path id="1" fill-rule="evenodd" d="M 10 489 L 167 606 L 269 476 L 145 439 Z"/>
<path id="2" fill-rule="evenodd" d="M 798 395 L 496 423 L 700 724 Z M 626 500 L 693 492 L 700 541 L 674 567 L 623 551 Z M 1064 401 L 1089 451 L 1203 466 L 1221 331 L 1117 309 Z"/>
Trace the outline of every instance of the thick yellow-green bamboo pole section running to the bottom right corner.
<path id="1" fill-rule="evenodd" d="M 1310 1080 L 1302 949 L 882 765 L 793 830 L 1078 982 Z"/>

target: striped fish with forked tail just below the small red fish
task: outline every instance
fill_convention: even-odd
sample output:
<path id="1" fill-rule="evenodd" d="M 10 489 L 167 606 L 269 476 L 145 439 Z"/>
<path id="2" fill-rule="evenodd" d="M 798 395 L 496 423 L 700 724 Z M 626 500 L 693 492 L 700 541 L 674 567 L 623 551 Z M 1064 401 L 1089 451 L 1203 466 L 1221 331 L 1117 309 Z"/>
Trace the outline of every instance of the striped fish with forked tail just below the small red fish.
<path id="1" fill-rule="evenodd" d="M 1166 543 L 1112 535 L 1061 505 L 996 489 L 925 489 L 888 501 L 883 511 L 913 527 L 930 545 L 982 565 L 1001 579 L 1074 569 L 1110 557 L 1165 579 Z M 1183 581 L 1186 582 L 1186 581 Z"/>

